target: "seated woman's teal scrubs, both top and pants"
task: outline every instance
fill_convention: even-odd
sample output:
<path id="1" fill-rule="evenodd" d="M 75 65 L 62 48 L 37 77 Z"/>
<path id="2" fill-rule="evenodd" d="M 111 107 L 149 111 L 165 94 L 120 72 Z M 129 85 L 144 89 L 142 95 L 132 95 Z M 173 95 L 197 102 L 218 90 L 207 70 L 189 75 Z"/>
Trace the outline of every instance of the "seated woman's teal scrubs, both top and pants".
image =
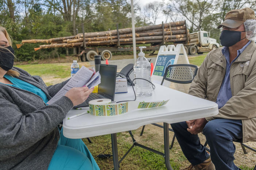
<path id="1" fill-rule="evenodd" d="M 48 99 L 44 92 L 34 85 L 31 85 L 25 81 L 19 80 L 18 78 L 5 75 L 16 88 L 28 90 L 36 95 L 40 96 L 44 103 L 48 102 Z M 48 170 L 99 170 L 96 161 L 92 154 L 86 147 L 82 139 L 69 139 L 63 136 L 62 129 L 60 131 L 60 139 L 58 146 L 51 159 Z"/>

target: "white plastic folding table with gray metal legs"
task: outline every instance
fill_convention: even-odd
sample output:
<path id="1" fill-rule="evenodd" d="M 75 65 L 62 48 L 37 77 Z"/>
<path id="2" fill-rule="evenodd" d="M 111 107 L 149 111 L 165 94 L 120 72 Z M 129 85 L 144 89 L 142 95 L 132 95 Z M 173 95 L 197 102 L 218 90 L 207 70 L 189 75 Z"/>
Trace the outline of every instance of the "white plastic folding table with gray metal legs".
<path id="1" fill-rule="evenodd" d="M 136 101 L 170 99 L 166 105 L 151 109 L 136 109 L 132 112 L 112 117 L 96 117 L 90 114 L 84 114 L 67 120 L 70 116 L 87 112 L 87 110 L 71 109 L 63 120 L 63 135 L 67 138 L 75 139 L 111 134 L 113 163 L 115 170 L 118 170 L 119 162 L 121 162 L 123 158 L 118 161 L 116 133 L 135 130 L 147 124 L 164 122 L 164 153 L 152 150 L 143 145 L 140 147 L 163 155 L 167 169 L 172 170 L 169 155 L 168 124 L 215 116 L 218 114 L 218 105 L 215 102 L 194 97 L 165 86 L 158 84 L 155 86 L 156 88 L 153 90 L 152 96 L 137 98 Z M 128 93 L 115 94 L 115 101 L 133 100 L 134 98 L 131 86 L 128 87 Z"/>

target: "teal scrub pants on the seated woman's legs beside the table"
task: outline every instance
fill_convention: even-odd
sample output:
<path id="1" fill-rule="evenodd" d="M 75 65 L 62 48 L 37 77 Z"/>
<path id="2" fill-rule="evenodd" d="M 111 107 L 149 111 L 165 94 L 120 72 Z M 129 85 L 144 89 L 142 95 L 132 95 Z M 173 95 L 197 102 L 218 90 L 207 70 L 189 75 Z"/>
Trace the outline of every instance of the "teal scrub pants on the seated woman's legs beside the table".
<path id="1" fill-rule="evenodd" d="M 82 139 L 69 139 L 62 130 L 60 133 L 48 170 L 100 170 Z"/>

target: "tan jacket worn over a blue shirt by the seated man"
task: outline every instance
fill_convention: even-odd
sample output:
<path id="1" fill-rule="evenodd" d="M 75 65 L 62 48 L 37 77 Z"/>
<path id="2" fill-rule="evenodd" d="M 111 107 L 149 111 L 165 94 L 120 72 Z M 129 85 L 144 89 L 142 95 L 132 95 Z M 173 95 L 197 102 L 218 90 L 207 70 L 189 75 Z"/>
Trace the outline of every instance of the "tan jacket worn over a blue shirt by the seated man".
<path id="1" fill-rule="evenodd" d="M 217 48 L 209 52 L 191 83 L 189 94 L 216 102 L 225 77 L 226 59 Z M 219 109 L 219 114 L 207 117 L 242 120 L 243 142 L 256 141 L 256 45 L 252 41 L 230 66 L 232 97 Z"/>

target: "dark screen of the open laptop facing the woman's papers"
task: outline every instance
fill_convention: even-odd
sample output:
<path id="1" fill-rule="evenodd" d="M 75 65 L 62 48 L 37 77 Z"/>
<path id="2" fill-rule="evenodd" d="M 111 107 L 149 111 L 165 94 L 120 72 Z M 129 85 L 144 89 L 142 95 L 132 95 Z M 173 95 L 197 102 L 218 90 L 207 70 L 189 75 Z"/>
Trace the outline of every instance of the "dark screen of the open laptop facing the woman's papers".
<path id="1" fill-rule="evenodd" d="M 112 101 L 115 97 L 116 71 L 117 65 L 100 64 L 101 83 L 98 87 L 98 93 L 107 96 Z"/>

